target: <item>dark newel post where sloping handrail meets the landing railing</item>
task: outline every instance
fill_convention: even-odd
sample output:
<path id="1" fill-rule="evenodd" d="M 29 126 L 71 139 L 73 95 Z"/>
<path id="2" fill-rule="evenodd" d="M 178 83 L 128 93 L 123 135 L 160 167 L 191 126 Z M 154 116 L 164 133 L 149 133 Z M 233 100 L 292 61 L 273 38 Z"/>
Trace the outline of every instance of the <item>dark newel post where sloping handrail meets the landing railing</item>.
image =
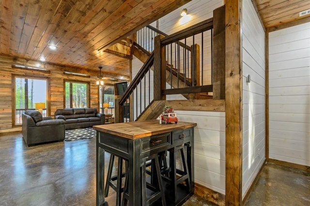
<path id="1" fill-rule="evenodd" d="M 165 47 L 161 47 L 160 39 L 163 35 L 155 36 L 154 39 L 154 100 L 165 100 L 166 95 L 162 94 L 165 89 Z"/>

